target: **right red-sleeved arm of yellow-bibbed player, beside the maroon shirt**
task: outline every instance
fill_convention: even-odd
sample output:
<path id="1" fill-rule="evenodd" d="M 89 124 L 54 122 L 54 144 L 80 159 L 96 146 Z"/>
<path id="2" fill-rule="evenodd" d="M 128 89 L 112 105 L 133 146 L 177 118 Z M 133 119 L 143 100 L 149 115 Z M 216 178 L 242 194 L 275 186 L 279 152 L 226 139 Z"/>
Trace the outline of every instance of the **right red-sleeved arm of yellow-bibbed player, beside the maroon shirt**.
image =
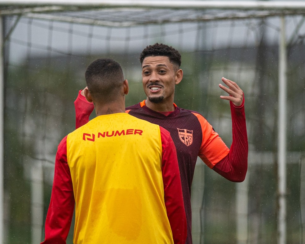
<path id="1" fill-rule="evenodd" d="M 176 148 L 170 133 L 162 127 L 160 127 L 160 130 L 162 177 L 167 217 L 173 233 L 174 243 L 184 244 L 187 237 L 187 224 Z"/>

